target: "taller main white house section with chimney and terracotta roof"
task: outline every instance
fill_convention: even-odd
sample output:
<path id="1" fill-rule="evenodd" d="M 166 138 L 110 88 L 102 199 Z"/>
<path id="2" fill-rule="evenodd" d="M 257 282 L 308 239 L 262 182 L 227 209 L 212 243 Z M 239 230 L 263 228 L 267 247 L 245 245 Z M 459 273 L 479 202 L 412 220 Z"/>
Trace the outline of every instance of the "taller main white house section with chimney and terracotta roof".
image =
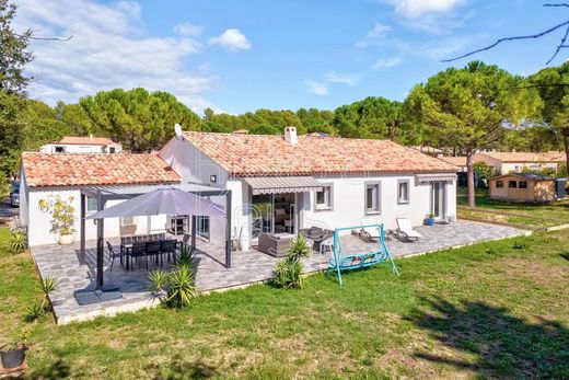
<path id="1" fill-rule="evenodd" d="M 232 226 L 245 249 L 263 232 L 396 227 L 456 214 L 456 168 L 392 141 L 326 136 L 184 133 L 159 153 L 183 182 L 232 191 Z M 211 237 L 217 227 L 209 226 Z M 239 232 L 237 232 L 239 231 Z M 217 242 L 219 243 L 219 242 Z"/>

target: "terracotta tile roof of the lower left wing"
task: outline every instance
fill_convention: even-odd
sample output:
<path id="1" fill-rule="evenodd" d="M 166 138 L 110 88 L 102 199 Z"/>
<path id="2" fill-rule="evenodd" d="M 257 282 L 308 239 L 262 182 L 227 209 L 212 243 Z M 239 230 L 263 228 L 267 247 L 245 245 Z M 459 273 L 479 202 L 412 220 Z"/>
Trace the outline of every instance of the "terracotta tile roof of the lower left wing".
<path id="1" fill-rule="evenodd" d="M 179 182 L 156 154 L 22 153 L 28 186 Z"/>

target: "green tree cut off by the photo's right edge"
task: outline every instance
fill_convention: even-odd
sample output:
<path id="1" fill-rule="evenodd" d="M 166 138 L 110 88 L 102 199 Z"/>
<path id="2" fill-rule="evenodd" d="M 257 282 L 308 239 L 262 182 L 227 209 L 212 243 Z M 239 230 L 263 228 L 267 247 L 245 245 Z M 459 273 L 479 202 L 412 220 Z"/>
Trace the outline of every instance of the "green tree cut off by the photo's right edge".
<path id="1" fill-rule="evenodd" d="M 569 176 L 569 62 L 543 69 L 530 80 L 544 101 L 543 119 L 561 135 Z"/>

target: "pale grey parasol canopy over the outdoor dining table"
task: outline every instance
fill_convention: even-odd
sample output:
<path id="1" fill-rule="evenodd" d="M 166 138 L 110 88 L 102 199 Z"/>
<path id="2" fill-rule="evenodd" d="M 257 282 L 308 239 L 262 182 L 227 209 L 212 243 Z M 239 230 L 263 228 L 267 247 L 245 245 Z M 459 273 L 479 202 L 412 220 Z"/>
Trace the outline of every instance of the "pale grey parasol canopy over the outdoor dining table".
<path id="1" fill-rule="evenodd" d="M 162 187 L 118 205 L 105 208 L 85 219 L 106 219 L 152 215 L 225 216 L 225 210 L 211 200 L 174 187 Z"/>

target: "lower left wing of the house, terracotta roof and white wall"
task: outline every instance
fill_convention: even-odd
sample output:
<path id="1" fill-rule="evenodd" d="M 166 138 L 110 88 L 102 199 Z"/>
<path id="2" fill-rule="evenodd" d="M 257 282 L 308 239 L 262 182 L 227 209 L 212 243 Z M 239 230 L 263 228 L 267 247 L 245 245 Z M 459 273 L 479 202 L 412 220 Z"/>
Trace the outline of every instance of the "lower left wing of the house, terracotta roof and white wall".
<path id="1" fill-rule="evenodd" d="M 179 176 L 156 154 L 85 154 L 32 153 L 22 154 L 20 185 L 20 220 L 27 226 L 30 245 L 54 244 L 57 234 L 51 231 L 51 218 L 39 209 L 39 200 L 60 196 L 72 197 L 76 209 L 76 235 L 79 238 L 80 189 L 85 186 L 119 186 L 177 184 Z M 116 204 L 109 201 L 108 206 Z M 88 198 L 86 212 L 97 210 L 96 199 Z M 105 222 L 105 235 L 118 237 L 163 230 L 165 216 L 128 217 Z M 85 237 L 95 239 L 93 222 L 85 226 Z"/>

